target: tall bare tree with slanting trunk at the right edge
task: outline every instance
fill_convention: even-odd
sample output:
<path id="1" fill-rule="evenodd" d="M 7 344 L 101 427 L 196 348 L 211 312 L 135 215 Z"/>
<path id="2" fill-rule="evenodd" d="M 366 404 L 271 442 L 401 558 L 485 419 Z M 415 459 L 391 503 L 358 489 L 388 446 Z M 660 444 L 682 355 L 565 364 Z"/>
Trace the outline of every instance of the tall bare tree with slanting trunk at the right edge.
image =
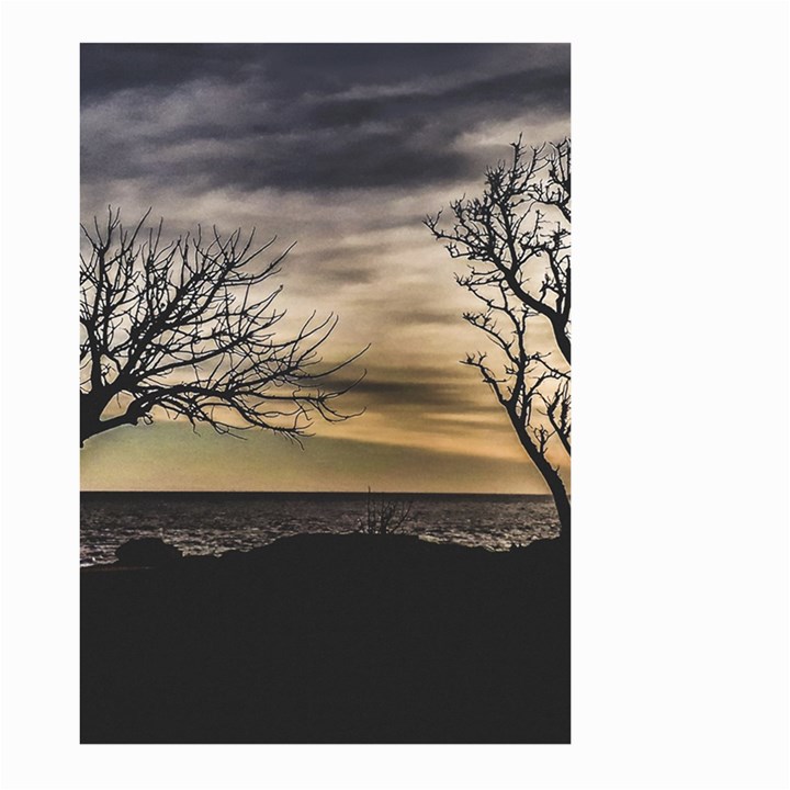
<path id="1" fill-rule="evenodd" d="M 441 212 L 425 224 L 469 264 L 455 279 L 483 307 L 464 318 L 495 351 L 463 362 L 507 411 L 568 537 L 556 459 L 571 455 L 571 140 L 528 150 L 519 138 L 512 149 L 487 170 L 482 198 L 451 203 L 451 228 L 440 227 Z"/>

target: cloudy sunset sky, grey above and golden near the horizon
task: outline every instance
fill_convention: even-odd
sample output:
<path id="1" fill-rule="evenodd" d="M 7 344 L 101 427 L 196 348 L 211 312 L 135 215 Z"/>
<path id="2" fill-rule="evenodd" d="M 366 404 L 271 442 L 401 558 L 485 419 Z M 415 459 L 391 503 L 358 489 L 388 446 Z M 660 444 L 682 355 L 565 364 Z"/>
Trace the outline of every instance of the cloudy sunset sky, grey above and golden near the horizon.
<path id="1" fill-rule="evenodd" d="M 82 488 L 544 493 L 460 364 L 486 341 L 461 317 L 462 264 L 421 223 L 479 194 L 520 134 L 569 136 L 569 80 L 563 44 L 83 44 L 82 221 L 151 207 L 166 234 L 296 242 L 279 275 L 289 320 L 339 316 L 327 361 L 370 348 L 347 372 L 366 371 L 346 398 L 364 414 L 316 421 L 303 448 L 158 415 L 88 440 Z"/>

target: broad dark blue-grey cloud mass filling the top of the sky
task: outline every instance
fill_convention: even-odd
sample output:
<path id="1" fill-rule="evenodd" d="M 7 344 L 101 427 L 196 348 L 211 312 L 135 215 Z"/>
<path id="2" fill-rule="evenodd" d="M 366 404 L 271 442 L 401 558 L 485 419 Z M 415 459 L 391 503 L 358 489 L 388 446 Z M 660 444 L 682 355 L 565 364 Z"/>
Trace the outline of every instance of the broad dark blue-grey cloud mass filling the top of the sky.
<path id="1" fill-rule="evenodd" d="M 476 172 L 483 124 L 566 117 L 569 47 L 83 45 L 82 101 L 86 183 L 413 189 Z"/>

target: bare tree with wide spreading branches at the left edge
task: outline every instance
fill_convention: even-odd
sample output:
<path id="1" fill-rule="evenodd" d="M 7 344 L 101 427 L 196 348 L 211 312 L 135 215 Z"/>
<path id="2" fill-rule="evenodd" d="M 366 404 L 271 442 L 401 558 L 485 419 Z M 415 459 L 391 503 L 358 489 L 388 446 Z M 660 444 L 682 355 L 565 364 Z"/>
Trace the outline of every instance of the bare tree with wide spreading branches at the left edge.
<path id="1" fill-rule="evenodd" d="M 255 230 L 214 228 L 162 239 L 162 223 L 132 228 L 120 212 L 81 226 L 80 445 L 123 425 L 150 422 L 156 408 L 237 436 L 264 428 L 298 441 L 312 417 L 337 421 L 336 371 L 360 354 L 325 365 L 319 349 L 337 318 L 315 314 L 290 337 L 270 280 L 291 249 L 259 263 L 274 244 Z"/>

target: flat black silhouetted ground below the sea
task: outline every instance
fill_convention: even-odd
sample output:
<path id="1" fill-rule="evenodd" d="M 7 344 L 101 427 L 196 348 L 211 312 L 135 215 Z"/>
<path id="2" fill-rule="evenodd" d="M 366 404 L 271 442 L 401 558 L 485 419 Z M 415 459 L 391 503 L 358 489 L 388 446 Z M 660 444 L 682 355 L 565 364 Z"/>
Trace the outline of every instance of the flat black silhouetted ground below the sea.
<path id="1" fill-rule="evenodd" d="M 306 534 L 81 574 L 82 743 L 569 743 L 564 541 Z"/>

